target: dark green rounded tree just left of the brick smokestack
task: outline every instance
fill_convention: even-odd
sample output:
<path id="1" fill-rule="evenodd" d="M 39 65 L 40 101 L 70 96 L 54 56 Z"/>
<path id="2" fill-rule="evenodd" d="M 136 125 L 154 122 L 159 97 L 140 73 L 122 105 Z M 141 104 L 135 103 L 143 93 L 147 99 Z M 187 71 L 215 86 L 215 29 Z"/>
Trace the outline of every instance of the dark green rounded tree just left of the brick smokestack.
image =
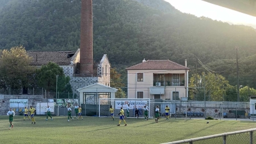
<path id="1" fill-rule="evenodd" d="M 58 92 L 64 92 L 65 87 L 70 81 L 70 77 L 64 75 L 63 68 L 52 62 L 36 70 L 36 79 L 39 86 L 50 92 L 56 91 L 57 79 Z"/>

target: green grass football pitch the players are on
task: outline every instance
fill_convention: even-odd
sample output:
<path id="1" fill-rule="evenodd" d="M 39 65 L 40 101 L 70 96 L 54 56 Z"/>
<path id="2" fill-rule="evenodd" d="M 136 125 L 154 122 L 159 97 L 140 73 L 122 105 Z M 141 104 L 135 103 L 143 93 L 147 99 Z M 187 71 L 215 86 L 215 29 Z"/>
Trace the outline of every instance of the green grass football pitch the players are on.
<path id="1" fill-rule="evenodd" d="M 67 116 L 53 116 L 45 121 L 46 116 L 35 116 L 36 124 L 31 124 L 23 116 L 15 116 L 13 128 L 8 129 L 8 116 L 0 116 L 0 143 L 166 143 L 240 131 L 256 127 L 255 122 L 233 120 L 184 120 L 161 118 L 125 119 L 120 127 L 118 117 L 111 118 L 85 117 L 83 120 L 70 120 Z"/>

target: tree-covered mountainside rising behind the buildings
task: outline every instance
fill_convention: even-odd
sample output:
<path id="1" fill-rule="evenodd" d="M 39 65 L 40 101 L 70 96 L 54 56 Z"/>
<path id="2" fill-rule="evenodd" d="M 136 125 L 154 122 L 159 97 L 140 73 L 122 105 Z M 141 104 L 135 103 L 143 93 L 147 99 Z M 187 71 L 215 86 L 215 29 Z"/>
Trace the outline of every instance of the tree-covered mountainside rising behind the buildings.
<path id="1" fill-rule="evenodd" d="M 139 1 L 140 3 L 138 3 Z M 236 84 L 236 46 L 240 73 L 252 76 L 256 31 L 206 17 L 180 13 L 173 6 L 151 0 L 93 0 L 93 55 L 108 54 L 112 67 L 146 60 L 169 59 L 191 73 L 195 57 Z M 3 3 L 3 1 L 2 1 Z M 24 45 L 33 51 L 71 51 L 79 48 L 81 0 L 9 0 L 0 7 L 0 49 Z M 146 4 L 147 6 L 143 5 Z M 1 4 L 0 4 L 1 5 Z M 170 8 L 168 8 L 170 6 Z M 221 64 L 221 65 L 220 65 Z M 227 70 L 227 68 L 229 68 Z M 120 68 L 119 68 L 120 69 Z M 199 68 L 198 72 L 205 71 Z M 123 71 L 124 72 L 124 71 Z M 243 79 L 243 77 L 241 77 Z M 255 77 L 256 80 L 256 77 Z"/>

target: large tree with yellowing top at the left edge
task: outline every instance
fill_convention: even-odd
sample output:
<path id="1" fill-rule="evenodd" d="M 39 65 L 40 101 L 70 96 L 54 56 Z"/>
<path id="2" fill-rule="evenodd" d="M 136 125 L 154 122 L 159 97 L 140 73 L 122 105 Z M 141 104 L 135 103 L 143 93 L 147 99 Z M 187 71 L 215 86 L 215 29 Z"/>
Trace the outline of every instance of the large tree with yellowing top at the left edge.
<path id="1" fill-rule="evenodd" d="M 23 46 L 12 47 L 0 51 L 0 79 L 1 87 L 12 89 L 28 87 L 29 76 L 35 72 L 35 67 L 29 66 L 31 57 Z"/>

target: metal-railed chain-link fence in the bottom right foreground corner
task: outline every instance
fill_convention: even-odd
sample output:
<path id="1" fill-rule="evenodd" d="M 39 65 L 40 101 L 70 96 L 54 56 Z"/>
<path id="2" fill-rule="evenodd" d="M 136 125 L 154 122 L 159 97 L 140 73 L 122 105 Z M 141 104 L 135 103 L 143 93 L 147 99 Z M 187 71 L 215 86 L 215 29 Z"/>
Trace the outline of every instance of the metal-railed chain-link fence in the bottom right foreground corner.
<path id="1" fill-rule="evenodd" d="M 212 136 L 204 136 L 200 138 L 191 138 L 188 140 L 173 141 L 164 144 L 215 144 L 215 143 L 232 143 L 232 144 L 253 144 L 256 143 L 256 129 L 248 129 L 243 131 L 227 132 L 223 134 L 215 134 Z"/>

